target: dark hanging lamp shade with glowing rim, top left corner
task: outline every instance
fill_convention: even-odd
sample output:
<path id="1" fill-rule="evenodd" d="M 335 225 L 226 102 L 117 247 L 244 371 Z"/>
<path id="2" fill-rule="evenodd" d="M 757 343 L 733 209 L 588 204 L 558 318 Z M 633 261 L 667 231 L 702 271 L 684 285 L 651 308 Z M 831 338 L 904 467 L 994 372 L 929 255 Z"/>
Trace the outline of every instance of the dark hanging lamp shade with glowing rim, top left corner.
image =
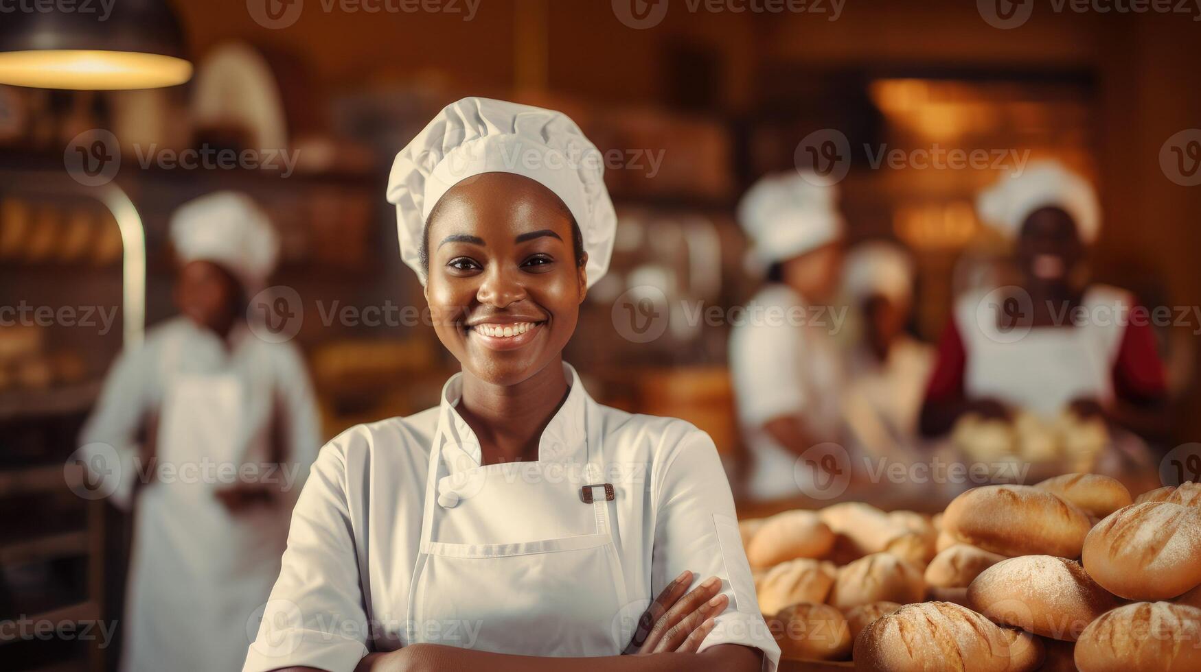
<path id="1" fill-rule="evenodd" d="M 18 4 L 0 20 L 0 84 L 153 89 L 192 77 L 179 19 L 165 0 Z"/>

